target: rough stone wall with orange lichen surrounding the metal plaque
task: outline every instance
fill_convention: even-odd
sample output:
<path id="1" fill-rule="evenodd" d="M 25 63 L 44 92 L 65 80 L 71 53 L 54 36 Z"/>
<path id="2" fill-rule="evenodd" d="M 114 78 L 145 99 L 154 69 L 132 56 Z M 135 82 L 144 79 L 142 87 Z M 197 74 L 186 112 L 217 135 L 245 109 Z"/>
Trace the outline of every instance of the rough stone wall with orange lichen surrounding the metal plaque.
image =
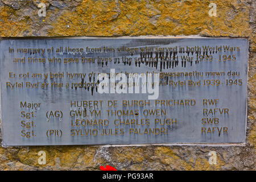
<path id="1" fill-rule="evenodd" d="M 46 17 L 38 5 L 46 3 Z M 209 16 L 209 3 L 217 16 Z M 254 0 L 0 0 L 0 36 L 246 37 L 250 40 L 245 146 L 0 147 L 0 170 L 255 170 L 256 37 Z M 46 164 L 38 152 L 46 152 Z M 217 163 L 209 163 L 216 151 Z"/>

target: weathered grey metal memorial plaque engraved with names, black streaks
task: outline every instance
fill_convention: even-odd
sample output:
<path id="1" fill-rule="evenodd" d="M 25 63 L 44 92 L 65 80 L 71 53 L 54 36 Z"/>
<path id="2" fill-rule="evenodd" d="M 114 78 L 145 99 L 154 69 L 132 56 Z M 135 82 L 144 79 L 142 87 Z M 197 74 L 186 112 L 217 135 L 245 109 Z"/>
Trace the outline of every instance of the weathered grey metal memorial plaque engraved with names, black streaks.
<path id="1" fill-rule="evenodd" d="M 244 143 L 248 40 L 3 39 L 3 146 Z"/>

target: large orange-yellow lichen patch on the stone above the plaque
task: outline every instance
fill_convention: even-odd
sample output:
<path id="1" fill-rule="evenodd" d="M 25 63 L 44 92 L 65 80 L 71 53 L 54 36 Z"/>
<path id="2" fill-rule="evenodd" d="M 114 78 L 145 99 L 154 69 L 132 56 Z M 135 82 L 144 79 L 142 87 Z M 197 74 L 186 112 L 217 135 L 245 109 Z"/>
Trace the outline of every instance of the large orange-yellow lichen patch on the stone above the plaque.
<path id="1" fill-rule="evenodd" d="M 248 36 L 245 2 L 216 1 L 217 16 L 208 15 L 210 1 L 83 1 L 53 22 L 51 36 L 196 35 Z M 237 11 L 239 9 L 239 11 Z M 67 28 L 67 25 L 70 27 Z"/>

